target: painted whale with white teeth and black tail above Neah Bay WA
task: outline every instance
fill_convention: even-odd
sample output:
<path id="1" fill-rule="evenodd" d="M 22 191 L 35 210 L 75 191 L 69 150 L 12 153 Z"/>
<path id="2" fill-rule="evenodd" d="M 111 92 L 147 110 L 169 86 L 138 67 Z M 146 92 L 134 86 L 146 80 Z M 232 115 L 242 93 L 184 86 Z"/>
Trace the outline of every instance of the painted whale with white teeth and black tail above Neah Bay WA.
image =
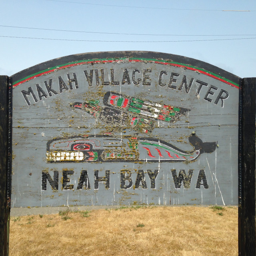
<path id="1" fill-rule="evenodd" d="M 189 137 L 194 150 L 184 151 L 160 139 L 132 136 L 85 136 L 58 138 L 47 143 L 47 162 L 188 162 L 211 153 L 217 142 Z"/>

